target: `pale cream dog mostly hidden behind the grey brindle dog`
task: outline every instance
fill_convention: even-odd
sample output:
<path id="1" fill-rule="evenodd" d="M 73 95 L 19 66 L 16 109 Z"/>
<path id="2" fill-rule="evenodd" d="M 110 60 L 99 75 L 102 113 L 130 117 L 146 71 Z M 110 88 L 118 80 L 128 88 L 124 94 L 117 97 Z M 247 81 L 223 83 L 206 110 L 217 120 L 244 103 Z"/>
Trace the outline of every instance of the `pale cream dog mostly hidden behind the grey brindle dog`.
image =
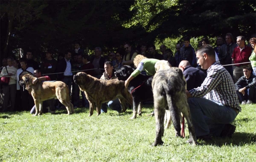
<path id="1" fill-rule="evenodd" d="M 163 69 L 174 69 L 175 71 L 182 73 L 182 71 L 179 68 L 172 67 L 172 65 L 168 61 L 165 61 L 165 60 L 157 61 L 155 64 L 156 72 L 158 72 L 159 70 L 163 70 Z M 183 81 L 185 81 L 185 90 L 186 90 L 186 79 L 183 74 L 182 74 L 182 78 L 183 78 Z M 183 116 L 182 113 L 181 113 L 181 116 Z M 180 118 L 180 122 L 182 123 L 181 118 Z M 166 110 L 166 113 L 164 116 L 164 123 L 166 124 L 165 129 L 168 129 L 172 124 L 171 113 L 169 110 Z M 185 125 L 185 127 L 186 127 L 186 125 Z"/>

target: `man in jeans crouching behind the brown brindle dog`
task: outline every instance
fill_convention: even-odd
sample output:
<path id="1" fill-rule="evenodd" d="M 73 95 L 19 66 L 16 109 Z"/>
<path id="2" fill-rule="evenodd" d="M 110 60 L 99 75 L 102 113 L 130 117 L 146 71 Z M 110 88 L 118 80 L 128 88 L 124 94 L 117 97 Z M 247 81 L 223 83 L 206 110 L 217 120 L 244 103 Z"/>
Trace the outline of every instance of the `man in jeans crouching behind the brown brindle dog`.
<path id="1" fill-rule="evenodd" d="M 113 69 L 113 64 L 111 61 L 107 61 L 104 63 L 104 69 L 105 69 L 105 72 L 101 76 L 100 78 L 101 80 L 108 81 L 111 79 L 117 79 L 115 76 L 116 70 Z M 118 98 L 114 99 L 113 101 L 109 101 L 108 107 L 112 110 L 116 110 L 118 113 L 122 113 L 122 106 Z M 107 113 L 107 111 L 108 111 L 107 104 L 106 103 L 102 104 L 101 113 Z"/>

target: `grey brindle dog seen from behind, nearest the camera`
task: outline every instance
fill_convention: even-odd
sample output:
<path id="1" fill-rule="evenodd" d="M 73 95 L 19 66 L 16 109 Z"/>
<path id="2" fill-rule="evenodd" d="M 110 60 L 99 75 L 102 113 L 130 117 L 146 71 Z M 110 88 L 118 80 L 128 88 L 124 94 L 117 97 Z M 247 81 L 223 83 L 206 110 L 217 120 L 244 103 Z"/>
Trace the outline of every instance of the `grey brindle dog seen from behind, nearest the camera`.
<path id="1" fill-rule="evenodd" d="M 156 121 L 156 139 L 154 146 L 162 145 L 162 136 L 164 133 L 165 110 L 169 110 L 172 116 L 172 122 L 175 127 L 176 136 L 180 135 L 180 112 L 186 118 L 189 128 L 190 144 L 197 144 L 195 129 L 193 127 L 187 103 L 185 86 L 183 79 L 178 72 L 173 69 L 164 69 L 154 75 L 152 81 L 154 94 L 154 112 Z"/>

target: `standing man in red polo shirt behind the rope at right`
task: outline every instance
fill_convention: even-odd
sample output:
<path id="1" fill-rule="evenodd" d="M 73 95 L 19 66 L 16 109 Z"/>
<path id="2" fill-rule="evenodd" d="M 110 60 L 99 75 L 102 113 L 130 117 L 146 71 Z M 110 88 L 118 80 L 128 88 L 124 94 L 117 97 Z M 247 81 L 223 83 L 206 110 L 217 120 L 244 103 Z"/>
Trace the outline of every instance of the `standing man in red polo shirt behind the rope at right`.
<path id="1" fill-rule="evenodd" d="M 233 50 L 233 54 L 231 56 L 232 58 L 232 64 L 233 65 L 233 76 L 235 83 L 244 76 L 243 74 L 243 68 L 248 66 L 249 57 L 251 55 L 251 48 L 245 45 L 245 38 L 244 36 L 238 36 L 237 39 L 237 45 Z"/>

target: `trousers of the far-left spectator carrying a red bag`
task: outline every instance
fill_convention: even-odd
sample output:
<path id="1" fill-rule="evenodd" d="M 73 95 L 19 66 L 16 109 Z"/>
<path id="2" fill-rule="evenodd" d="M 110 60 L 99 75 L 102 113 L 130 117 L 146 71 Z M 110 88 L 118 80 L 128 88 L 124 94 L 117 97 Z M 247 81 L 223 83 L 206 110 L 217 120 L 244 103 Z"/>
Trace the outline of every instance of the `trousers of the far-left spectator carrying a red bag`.
<path id="1" fill-rule="evenodd" d="M 8 86 L 3 86 L 3 108 L 7 111 L 14 111 L 15 108 L 15 98 L 16 98 L 17 85 L 11 84 Z M 8 108 L 11 101 L 11 107 Z"/>

